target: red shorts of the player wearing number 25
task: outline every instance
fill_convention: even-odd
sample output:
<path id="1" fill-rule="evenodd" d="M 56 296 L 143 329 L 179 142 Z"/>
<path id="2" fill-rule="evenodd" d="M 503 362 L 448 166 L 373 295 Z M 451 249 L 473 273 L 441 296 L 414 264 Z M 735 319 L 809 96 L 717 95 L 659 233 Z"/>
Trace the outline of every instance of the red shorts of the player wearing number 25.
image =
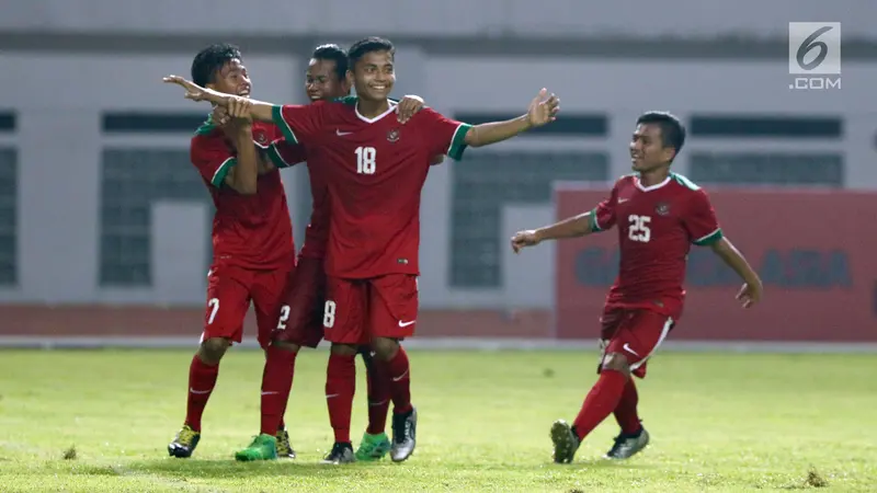
<path id="1" fill-rule="evenodd" d="M 630 372 L 646 378 L 646 362 L 658 349 L 675 323 L 672 317 L 643 308 L 606 307 L 600 318 L 600 364 L 606 355 L 618 353 L 627 357 Z"/>

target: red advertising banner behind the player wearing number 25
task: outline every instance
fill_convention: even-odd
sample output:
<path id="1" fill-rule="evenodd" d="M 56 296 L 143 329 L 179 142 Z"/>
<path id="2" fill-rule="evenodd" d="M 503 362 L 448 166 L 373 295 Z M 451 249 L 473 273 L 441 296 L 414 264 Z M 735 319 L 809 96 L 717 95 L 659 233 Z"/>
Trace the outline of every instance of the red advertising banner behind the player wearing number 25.
<path id="1" fill-rule="evenodd" d="M 726 237 L 761 275 L 762 303 L 744 310 L 741 283 L 709 248 L 692 246 L 674 340 L 877 342 L 877 194 L 708 191 Z M 558 218 L 589 210 L 605 186 L 562 184 Z M 618 266 L 615 230 L 558 243 L 556 334 L 595 337 Z"/>

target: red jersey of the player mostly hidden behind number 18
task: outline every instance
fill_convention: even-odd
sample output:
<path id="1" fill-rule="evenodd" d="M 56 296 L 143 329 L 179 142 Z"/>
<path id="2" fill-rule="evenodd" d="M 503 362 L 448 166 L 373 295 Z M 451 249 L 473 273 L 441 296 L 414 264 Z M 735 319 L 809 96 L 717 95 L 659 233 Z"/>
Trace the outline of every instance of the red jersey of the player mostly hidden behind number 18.
<path id="1" fill-rule="evenodd" d="M 310 180 L 311 213 L 310 222 L 305 230 L 305 244 L 300 255 L 306 259 L 322 259 L 326 256 L 329 243 L 329 186 L 326 177 L 320 173 L 324 167 L 319 164 L 319 149 L 305 151 L 301 144 L 289 144 L 278 139 L 271 145 L 269 156 L 278 167 L 288 167 L 296 163 L 303 154 L 307 154 L 308 179 Z"/>

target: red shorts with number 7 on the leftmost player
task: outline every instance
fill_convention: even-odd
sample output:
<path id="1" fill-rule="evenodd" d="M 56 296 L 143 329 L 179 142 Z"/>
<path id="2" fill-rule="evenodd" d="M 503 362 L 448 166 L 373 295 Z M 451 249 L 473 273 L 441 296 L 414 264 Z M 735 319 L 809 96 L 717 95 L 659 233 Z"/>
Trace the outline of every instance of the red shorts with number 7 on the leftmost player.
<path id="1" fill-rule="evenodd" d="M 286 268 L 255 271 L 215 263 L 207 275 L 207 310 L 201 340 L 224 337 L 243 340 L 243 318 L 255 307 L 259 345 L 267 347 L 277 326 L 277 312 L 283 305 L 286 286 L 295 271 L 295 259 Z"/>

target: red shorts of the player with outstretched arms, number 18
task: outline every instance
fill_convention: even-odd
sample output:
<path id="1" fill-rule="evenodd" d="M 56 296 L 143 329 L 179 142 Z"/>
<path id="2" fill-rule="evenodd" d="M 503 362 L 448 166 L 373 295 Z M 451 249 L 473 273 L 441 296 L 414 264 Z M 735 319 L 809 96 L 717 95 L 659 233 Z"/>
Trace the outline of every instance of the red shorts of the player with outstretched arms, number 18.
<path id="1" fill-rule="evenodd" d="M 327 279 L 323 312 L 327 341 L 366 344 L 374 337 L 401 340 L 414 334 L 417 319 L 418 278 L 414 275 Z"/>

